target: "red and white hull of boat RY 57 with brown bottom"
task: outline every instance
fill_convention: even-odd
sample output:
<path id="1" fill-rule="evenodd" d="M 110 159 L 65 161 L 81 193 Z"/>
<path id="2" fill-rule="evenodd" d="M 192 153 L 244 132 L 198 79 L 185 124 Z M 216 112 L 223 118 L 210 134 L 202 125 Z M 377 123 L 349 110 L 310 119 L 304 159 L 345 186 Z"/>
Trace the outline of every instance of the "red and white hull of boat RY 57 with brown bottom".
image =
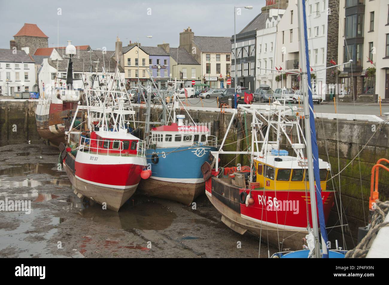
<path id="1" fill-rule="evenodd" d="M 79 156 L 81 156 L 81 159 L 78 158 Z M 89 159 L 89 156 L 91 154 L 78 152 L 77 157 L 74 157 L 68 152 L 65 159 L 63 159 L 63 166 L 70 182 L 76 189 L 77 195 L 83 195 L 100 205 L 106 205 L 109 210 L 119 211 L 120 207 L 137 189 L 140 172 L 144 165 L 79 162 Z M 112 159 L 109 156 L 99 156 L 100 161 L 104 157 Z M 93 155 L 93 157 L 96 157 L 96 155 Z"/>

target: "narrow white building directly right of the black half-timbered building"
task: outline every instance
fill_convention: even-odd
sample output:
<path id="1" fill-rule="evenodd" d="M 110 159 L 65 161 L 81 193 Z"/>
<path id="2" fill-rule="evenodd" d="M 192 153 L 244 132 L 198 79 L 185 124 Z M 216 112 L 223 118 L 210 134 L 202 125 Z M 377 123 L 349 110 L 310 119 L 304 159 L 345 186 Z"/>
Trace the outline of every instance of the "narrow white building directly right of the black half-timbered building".
<path id="1" fill-rule="evenodd" d="M 277 24 L 280 22 L 281 17 L 284 13 L 284 9 L 270 9 L 269 17 L 266 19 L 265 22 L 265 27 L 261 30 L 257 30 L 257 87 L 259 87 L 260 84 L 267 84 L 272 87 L 273 90 L 278 87 L 277 82 L 275 82 L 275 76 L 278 74 L 278 72 L 274 72 L 272 71 L 272 69 L 275 69 L 274 60 L 275 56 L 277 56 Z M 260 68 L 269 68 L 269 70 L 263 70 Z"/>

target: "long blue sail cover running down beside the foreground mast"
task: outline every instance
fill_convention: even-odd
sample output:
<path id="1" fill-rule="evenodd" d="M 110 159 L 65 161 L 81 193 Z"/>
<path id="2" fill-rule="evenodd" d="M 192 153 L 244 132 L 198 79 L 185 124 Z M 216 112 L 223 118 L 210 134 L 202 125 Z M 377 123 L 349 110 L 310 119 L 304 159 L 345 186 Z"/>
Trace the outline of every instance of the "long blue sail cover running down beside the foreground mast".
<path id="1" fill-rule="evenodd" d="M 311 72 L 309 64 L 309 55 L 308 55 L 308 37 L 307 37 L 307 14 L 305 12 L 305 0 L 300 0 L 303 2 L 303 20 L 304 20 L 304 39 L 305 39 L 305 57 L 307 58 L 307 81 L 308 81 L 308 102 L 309 102 L 309 122 L 311 127 L 311 144 L 312 144 L 312 156 L 314 159 L 314 176 L 315 176 L 315 188 L 316 188 L 316 202 L 317 210 L 319 213 L 319 223 L 320 223 L 320 232 L 324 244 L 322 248 L 325 249 L 328 241 L 326 223 L 324 220 L 324 211 L 323 211 L 323 200 L 321 198 L 321 186 L 320 186 L 320 175 L 319 175 L 319 150 L 317 147 L 316 140 L 316 129 L 315 129 L 315 117 L 314 117 L 314 102 L 312 101 L 312 85 L 311 85 Z M 319 183 L 316 183 L 319 181 Z M 326 250 L 323 250 L 323 258 L 328 258 L 328 253 Z"/>

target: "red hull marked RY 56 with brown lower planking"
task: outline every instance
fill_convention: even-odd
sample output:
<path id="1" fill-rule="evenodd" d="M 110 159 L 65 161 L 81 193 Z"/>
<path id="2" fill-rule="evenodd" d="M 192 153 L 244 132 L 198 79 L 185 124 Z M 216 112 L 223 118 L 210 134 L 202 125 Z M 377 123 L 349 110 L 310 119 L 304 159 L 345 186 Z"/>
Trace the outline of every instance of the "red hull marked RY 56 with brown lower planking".
<path id="1" fill-rule="evenodd" d="M 280 247 L 282 249 L 290 248 L 291 250 L 302 249 L 302 238 L 307 232 L 307 208 L 310 204 L 309 197 L 306 197 L 305 192 L 301 191 L 264 191 L 252 190 L 252 198 L 254 204 L 246 206 L 240 203 L 240 193 L 249 190 L 241 189 L 241 187 L 228 183 L 228 178 L 219 179 L 212 177 L 206 182 L 206 194 L 212 205 L 222 214 L 222 221 L 226 226 L 240 234 L 246 231 L 261 236 L 261 240 Z M 309 195 L 309 194 L 308 194 Z M 259 198 L 262 196 L 262 198 Z M 333 192 L 322 191 L 324 196 L 324 213 L 326 220 L 331 209 L 334 195 Z M 266 201 L 271 203 L 264 203 L 261 205 L 261 199 L 266 198 Z M 296 200 L 300 204 L 298 207 L 292 206 L 290 209 L 277 210 L 274 207 L 274 198 L 277 198 L 279 205 L 286 205 L 282 203 L 284 197 L 288 197 L 289 201 Z M 263 199 L 265 200 L 265 199 Z M 295 203 L 294 205 L 296 205 Z M 297 205 L 298 205 L 297 204 Z M 290 204 L 289 204 L 290 205 Z M 309 206 L 310 207 L 310 206 Z M 282 206 L 280 207 L 282 208 Z M 310 212 L 309 212 L 310 216 Z M 312 225 L 312 218 L 310 224 Z M 283 224 L 280 224 L 282 221 Z"/>

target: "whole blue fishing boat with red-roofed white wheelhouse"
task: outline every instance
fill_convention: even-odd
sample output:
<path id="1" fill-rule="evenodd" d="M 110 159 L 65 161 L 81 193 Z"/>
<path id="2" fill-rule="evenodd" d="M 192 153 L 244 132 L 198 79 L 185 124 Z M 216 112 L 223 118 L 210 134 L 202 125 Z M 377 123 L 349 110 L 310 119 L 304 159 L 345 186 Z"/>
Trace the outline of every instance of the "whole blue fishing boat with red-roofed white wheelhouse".
<path id="1" fill-rule="evenodd" d="M 205 124 L 195 123 L 182 105 L 176 92 L 180 82 L 175 80 L 168 84 L 170 96 L 167 97 L 172 98 L 169 100 L 170 110 L 165 104 L 165 94 L 160 94 L 158 89 L 156 93 L 163 108 L 162 126 L 151 126 L 156 122 L 149 122 L 149 115 L 146 115 L 146 156 L 151 176 L 142 179 L 138 189 L 141 194 L 190 205 L 204 193 L 205 181 L 200 167 L 210 159 L 210 152 L 217 150 L 217 138 L 210 135 L 210 129 Z M 147 114 L 150 114 L 150 96 L 147 99 Z M 179 102 L 181 112 L 186 111 L 189 116 L 189 124 L 184 124 L 184 114 L 175 113 Z"/>

